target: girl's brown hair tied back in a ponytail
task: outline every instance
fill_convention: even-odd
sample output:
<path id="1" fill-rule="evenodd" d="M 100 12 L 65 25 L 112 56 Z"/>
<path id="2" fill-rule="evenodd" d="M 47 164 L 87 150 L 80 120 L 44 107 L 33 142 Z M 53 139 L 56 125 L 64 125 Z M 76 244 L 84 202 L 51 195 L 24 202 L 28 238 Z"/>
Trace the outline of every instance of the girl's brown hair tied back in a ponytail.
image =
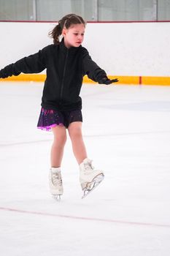
<path id="1" fill-rule="evenodd" d="M 58 21 L 58 25 L 49 33 L 49 36 L 53 38 L 55 45 L 60 43 L 60 36 L 63 28 L 69 29 L 69 27 L 74 24 L 83 24 L 85 26 L 85 20 L 79 15 L 68 14 Z"/>

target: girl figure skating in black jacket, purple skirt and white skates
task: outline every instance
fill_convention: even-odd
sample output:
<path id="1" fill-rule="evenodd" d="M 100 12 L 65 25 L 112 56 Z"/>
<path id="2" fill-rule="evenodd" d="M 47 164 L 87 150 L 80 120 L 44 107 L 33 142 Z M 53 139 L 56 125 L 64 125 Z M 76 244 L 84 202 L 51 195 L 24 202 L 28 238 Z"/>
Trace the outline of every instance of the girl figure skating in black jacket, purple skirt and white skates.
<path id="1" fill-rule="evenodd" d="M 7 78 L 20 75 L 21 72 L 38 73 L 47 69 L 37 127 L 51 129 L 54 135 L 49 184 L 51 194 L 59 198 L 63 195 L 61 161 L 66 143 L 66 129 L 72 140 L 74 156 L 80 166 L 80 185 L 84 196 L 104 177 L 103 171 L 95 170 L 92 161 L 88 159 L 82 139 L 82 99 L 79 95 L 84 75 L 104 84 L 117 82 L 117 79 L 109 80 L 106 72 L 90 58 L 88 50 L 82 47 L 84 34 L 85 21 L 82 17 L 66 15 L 50 32 L 53 45 L 48 45 L 38 53 L 0 70 L 0 78 Z"/>

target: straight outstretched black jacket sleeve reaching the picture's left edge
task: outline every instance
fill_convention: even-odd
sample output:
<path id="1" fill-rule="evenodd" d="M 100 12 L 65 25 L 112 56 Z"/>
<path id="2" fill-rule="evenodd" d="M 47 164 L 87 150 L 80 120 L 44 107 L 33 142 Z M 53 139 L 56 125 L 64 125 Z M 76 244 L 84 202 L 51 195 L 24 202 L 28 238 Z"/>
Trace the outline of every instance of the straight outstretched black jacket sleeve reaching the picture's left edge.
<path id="1" fill-rule="evenodd" d="M 24 57 L 19 61 L 9 64 L 0 70 L 0 78 L 7 78 L 12 75 L 20 75 L 23 73 L 39 73 L 46 68 L 45 64 L 45 48 L 39 50 L 38 53 L 34 53 L 28 57 Z"/>

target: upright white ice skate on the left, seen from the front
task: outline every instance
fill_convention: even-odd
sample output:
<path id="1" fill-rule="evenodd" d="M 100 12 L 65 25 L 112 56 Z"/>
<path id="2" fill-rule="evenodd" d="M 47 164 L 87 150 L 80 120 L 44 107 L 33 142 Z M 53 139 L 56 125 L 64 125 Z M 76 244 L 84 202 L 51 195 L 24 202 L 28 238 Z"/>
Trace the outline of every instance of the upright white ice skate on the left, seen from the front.
<path id="1" fill-rule="evenodd" d="M 49 185 L 51 194 L 57 199 L 61 200 L 63 195 L 63 184 L 61 178 L 61 168 L 52 167 L 49 173 Z"/>

